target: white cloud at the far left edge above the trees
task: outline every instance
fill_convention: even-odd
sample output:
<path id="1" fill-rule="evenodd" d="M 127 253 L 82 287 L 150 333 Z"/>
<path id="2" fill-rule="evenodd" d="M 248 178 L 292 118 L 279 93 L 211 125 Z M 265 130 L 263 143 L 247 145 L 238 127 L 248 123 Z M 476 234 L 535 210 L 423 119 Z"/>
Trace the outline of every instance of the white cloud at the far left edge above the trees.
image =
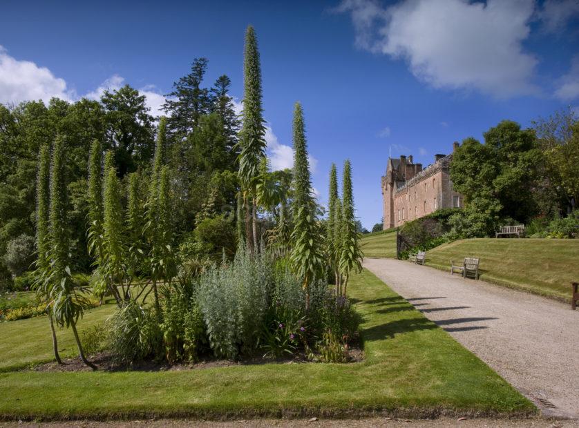
<path id="1" fill-rule="evenodd" d="M 52 97 L 70 101 L 75 93 L 66 88 L 64 79 L 55 77 L 48 68 L 15 59 L 0 46 L 0 103 L 17 104 L 39 99 L 48 102 Z"/>

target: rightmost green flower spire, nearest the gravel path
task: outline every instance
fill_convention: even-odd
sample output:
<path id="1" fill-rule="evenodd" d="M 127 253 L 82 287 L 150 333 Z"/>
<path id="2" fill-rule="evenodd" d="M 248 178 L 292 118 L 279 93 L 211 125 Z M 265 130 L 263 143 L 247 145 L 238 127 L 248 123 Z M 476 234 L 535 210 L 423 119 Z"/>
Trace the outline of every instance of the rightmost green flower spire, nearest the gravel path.
<path id="1" fill-rule="evenodd" d="M 356 230 L 354 218 L 354 196 L 352 194 L 352 166 L 350 161 L 344 162 L 342 185 L 342 251 L 340 257 L 340 271 L 343 275 L 343 295 L 348 288 L 348 279 L 352 272 L 362 270 L 363 253 L 359 244 L 359 233 Z"/>

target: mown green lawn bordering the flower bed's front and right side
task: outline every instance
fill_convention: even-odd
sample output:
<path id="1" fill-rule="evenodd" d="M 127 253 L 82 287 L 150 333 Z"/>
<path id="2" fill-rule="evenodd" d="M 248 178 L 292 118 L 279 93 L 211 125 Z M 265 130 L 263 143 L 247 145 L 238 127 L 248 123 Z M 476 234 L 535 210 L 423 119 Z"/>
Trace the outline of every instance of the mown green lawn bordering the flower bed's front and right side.
<path id="1" fill-rule="evenodd" d="M 0 418 L 346 416 L 382 409 L 412 416 L 535 412 L 531 402 L 372 273 L 352 278 L 350 289 L 364 317 L 364 362 L 0 373 L 0 385 L 10 391 L 0 395 Z M 8 347 L 20 341 L 7 331 L 14 325 L 0 324 Z M 48 337 L 37 332 L 35 340 Z M 6 346 L 1 348 L 6 352 Z"/>

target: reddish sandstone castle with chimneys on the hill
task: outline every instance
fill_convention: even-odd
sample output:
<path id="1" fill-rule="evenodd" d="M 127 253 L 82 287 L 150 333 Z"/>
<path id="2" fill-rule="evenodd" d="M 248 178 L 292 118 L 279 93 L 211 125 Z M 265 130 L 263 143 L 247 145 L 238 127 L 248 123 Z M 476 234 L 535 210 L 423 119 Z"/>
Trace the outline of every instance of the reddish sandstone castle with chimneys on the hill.
<path id="1" fill-rule="evenodd" d="M 455 142 L 453 151 L 459 147 Z M 388 157 L 386 175 L 382 177 L 383 229 L 402 226 L 433 213 L 439 208 L 457 208 L 462 195 L 453 190 L 450 162 L 453 154 L 435 155 L 435 162 L 422 169 L 412 163 L 412 155 L 400 159 Z"/>

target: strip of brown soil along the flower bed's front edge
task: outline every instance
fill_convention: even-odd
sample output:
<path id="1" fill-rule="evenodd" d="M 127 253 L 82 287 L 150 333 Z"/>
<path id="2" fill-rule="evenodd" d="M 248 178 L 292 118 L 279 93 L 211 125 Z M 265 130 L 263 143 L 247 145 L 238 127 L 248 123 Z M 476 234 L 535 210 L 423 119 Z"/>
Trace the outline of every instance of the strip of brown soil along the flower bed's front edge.
<path id="1" fill-rule="evenodd" d="M 360 362 L 364 359 L 364 352 L 359 348 L 348 349 L 348 363 Z M 88 358 L 97 369 L 102 371 L 180 371 L 211 369 L 213 367 L 229 367 L 254 364 L 315 364 L 315 361 L 308 360 L 305 355 L 298 355 L 291 358 L 246 358 L 243 360 L 218 360 L 207 358 L 194 363 L 169 364 L 166 361 L 144 360 L 133 364 L 116 364 L 108 353 L 97 353 Z M 80 358 L 66 358 L 63 364 L 57 362 L 46 362 L 32 367 L 33 371 L 92 371 L 90 367 L 80 360 Z M 346 363 L 347 364 L 347 363 Z M 30 370 L 30 368 L 26 369 Z"/>

